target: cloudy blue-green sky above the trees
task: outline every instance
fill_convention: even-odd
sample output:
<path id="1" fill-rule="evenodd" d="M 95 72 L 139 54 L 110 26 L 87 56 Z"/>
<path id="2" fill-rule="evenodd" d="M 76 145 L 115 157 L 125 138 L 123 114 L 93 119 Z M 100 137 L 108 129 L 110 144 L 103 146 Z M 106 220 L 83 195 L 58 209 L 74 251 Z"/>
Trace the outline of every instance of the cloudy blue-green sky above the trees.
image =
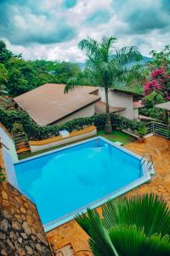
<path id="1" fill-rule="evenodd" d="M 26 59 L 83 61 L 87 35 L 143 55 L 170 44 L 170 0 L 0 0 L 0 39 Z"/>

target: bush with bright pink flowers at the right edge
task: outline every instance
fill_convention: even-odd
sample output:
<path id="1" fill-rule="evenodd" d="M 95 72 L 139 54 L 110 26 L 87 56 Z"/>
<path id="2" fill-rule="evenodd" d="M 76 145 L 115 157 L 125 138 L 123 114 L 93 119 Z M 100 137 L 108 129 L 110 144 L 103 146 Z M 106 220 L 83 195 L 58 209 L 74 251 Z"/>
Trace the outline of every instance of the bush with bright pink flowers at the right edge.
<path id="1" fill-rule="evenodd" d="M 150 79 L 144 83 L 146 96 L 155 90 L 161 93 L 165 100 L 170 100 L 170 75 L 164 67 L 152 69 Z"/>

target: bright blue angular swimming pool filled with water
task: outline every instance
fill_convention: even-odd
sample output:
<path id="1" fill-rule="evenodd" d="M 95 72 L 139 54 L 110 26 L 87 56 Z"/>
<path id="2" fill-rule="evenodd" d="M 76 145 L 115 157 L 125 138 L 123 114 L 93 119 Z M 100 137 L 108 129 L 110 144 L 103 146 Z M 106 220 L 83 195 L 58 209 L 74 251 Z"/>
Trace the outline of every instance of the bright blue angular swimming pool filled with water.
<path id="1" fill-rule="evenodd" d="M 103 137 L 14 165 L 20 190 L 37 205 L 44 230 L 150 180 L 141 157 Z"/>

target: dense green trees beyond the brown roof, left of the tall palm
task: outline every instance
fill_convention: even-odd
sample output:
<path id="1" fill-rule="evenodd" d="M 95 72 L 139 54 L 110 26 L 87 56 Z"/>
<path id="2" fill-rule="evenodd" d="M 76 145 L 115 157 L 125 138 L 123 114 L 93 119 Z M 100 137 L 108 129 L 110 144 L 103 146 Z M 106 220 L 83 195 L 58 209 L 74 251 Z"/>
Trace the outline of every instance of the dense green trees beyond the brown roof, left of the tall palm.
<path id="1" fill-rule="evenodd" d="M 63 83 L 81 73 L 81 68 L 66 61 L 26 61 L 14 55 L 0 41 L 0 84 L 1 91 L 18 96 L 45 83 Z"/>

